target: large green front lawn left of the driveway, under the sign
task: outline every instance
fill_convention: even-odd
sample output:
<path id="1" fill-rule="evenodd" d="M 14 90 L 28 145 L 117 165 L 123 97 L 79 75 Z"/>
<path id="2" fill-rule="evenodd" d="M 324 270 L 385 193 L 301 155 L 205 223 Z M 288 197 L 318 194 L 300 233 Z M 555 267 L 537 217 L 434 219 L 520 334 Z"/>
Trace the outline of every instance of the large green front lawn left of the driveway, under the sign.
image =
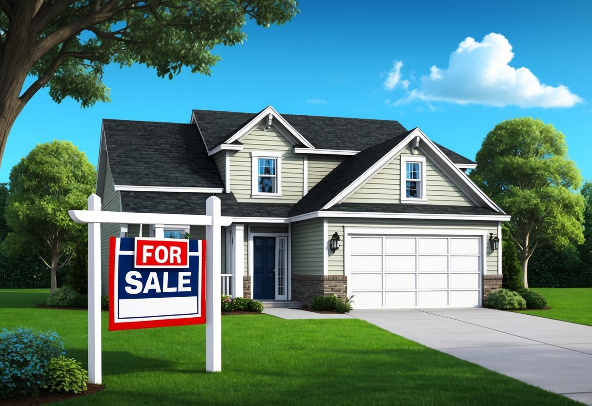
<path id="1" fill-rule="evenodd" d="M 0 327 L 57 331 L 86 365 L 86 312 L 34 308 L 46 295 L 0 290 Z M 102 327 L 107 389 L 69 405 L 578 404 L 355 319 L 223 317 L 221 373 L 204 372 L 205 326 Z"/>

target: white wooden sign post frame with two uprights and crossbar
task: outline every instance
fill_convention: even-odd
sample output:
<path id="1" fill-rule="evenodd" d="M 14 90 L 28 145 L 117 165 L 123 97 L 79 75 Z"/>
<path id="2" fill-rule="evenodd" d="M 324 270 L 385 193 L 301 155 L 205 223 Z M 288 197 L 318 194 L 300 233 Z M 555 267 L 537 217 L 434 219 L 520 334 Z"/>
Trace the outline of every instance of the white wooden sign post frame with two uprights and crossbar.
<path id="1" fill-rule="evenodd" d="M 70 210 L 76 223 L 88 223 L 88 380 L 102 383 L 101 359 L 101 223 L 205 225 L 206 298 L 205 298 L 205 370 L 222 370 L 220 313 L 220 227 L 232 223 L 232 217 L 220 215 L 220 199 L 210 196 L 205 215 L 135 213 L 101 211 L 101 198 L 88 197 L 88 210 Z"/>

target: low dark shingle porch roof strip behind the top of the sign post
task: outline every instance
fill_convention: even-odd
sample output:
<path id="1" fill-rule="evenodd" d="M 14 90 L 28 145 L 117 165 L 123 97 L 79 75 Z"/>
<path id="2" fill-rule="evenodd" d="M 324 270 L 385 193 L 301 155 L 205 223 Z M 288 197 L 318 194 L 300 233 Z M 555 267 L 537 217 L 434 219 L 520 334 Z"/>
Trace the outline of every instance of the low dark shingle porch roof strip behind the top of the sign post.
<path id="1" fill-rule="evenodd" d="M 205 201 L 218 196 L 222 215 L 288 217 L 291 204 L 239 203 L 232 193 L 121 192 L 121 210 L 172 214 L 205 214 Z"/>

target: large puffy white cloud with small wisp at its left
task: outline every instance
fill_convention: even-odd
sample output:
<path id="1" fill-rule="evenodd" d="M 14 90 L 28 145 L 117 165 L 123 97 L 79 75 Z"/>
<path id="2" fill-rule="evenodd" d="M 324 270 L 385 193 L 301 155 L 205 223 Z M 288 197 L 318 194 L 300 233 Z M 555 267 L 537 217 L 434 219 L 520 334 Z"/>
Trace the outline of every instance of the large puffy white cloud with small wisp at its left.
<path id="1" fill-rule="evenodd" d="M 422 99 L 497 107 L 572 107 L 584 101 L 564 85 L 540 83 L 526 67 L 511 67 L 513 57 L 512 46 L 501 34 L 487 34 L 481 42 L 467 37 L 451 53 L 446 69 L 432 66 L 430 75 L 420 79 L 419 88 L 399 102 Z M 395 85 L 400 79 L 400 67 L 396 68 L 397 64 L 387 79 L 393 75 Z"/>

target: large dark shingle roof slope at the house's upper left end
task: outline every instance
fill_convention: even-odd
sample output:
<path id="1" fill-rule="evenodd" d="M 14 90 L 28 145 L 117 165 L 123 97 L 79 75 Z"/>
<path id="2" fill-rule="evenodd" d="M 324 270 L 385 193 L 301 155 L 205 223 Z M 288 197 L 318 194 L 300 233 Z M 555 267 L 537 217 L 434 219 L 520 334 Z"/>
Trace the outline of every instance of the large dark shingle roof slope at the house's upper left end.
<path id="1" fill-rule="evenodd" d="M 103 120 L 115 185 L 223 188 L 193 124 Z"/>

